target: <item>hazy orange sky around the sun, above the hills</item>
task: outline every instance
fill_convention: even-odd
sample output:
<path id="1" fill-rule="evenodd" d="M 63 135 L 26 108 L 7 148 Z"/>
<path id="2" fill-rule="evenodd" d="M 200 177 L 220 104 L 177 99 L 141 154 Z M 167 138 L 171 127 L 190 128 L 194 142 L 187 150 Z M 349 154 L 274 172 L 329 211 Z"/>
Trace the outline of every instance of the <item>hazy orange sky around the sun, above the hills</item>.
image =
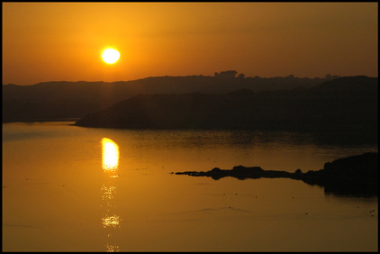
<path id="1" fill-rule="evenodd" d="M 378 76 L 377 3 L 3 3 L 3 84 Z M 102 51 L 119 50 L 113 65 Z"/>

